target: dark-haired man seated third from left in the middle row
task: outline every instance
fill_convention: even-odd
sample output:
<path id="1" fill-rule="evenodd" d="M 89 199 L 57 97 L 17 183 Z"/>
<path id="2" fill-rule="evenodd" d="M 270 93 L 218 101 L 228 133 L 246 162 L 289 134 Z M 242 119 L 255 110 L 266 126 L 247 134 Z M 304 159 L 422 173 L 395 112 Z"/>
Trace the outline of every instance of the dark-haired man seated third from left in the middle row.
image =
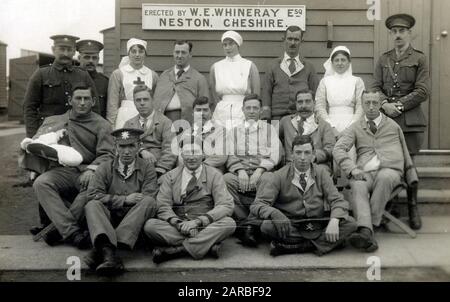
<path id="1" fill-rule="evenodd" d="M 177 141 L 172 142 L 172 147 L 176 150 L 175 148 L 180 145 L 181 141 L 189 140 L 191 136 L 198 136 L 203 142 L 204 163 L 224 171 L 228 159 L 224 149 L 226 135 L 223 127 L 211 120 L 211 117 L 208 98 L 204 96 L 196 98 L 193 103 L 193 125 L 184 130 Z M 175 153 L 178 154 L 179 152 Z M 182 157 L 179 156 L 179 163 L 182 164 L 182 161 Z"/>

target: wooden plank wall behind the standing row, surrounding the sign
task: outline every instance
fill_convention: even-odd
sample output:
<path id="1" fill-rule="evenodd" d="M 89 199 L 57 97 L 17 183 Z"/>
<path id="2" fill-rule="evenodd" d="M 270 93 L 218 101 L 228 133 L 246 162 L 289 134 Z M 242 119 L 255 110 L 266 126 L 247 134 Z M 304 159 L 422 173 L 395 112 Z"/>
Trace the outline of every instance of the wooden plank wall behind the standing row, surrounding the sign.
<path id="1" fill-rule="evenodd" d="M 189 39 L 193 44 L 192 66 L 208 76 L 210 66 L 224 57 L 220 43 L 223 31 L 153 31 L 142 29 L 143 3 L 168 3 L 168 1 L 116 0 L 116 66 L 126 55 L 126 42 L 132 37 L 149 43 L 146 64 L 158 73 L 173 65 L 172 49 L 177 39 Z M 191 4 L 192 1 L 173 1 L 170 4 Z M 237 4 L 258 5 L 261 1 L 195 1 L 195 4 Z M 334 25 L 334 43 L 345 45 L 352 51 L 355 75 L 370 82 L 373 73 L 374 23 L 366 17 L 368 5 L 365 0 L 296 0 L 264 1 L 265 5 L 306 5 L 306 34 L 301 46 L 302 55 L 312 62 L 319 75 L 324 73 L 322 64 L 331 49 L 326 46 L 327 21 Z M 119 21 L 119 22 L 118 22 Z M 282 32 L 240 31 L 244 44 L 240 53 L 252 60 L 258 67 L 262 80 L 268 64 L 283 54 Z"/>

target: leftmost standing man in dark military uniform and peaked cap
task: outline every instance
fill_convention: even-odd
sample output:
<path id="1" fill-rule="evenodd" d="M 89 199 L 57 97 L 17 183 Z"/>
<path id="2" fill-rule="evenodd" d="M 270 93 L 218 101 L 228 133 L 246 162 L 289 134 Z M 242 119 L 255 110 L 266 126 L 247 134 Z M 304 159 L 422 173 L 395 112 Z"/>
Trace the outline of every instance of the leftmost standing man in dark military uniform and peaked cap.
<path id="1" fill-rule="evenodd" d="M 23 111 L 27 137 L 33 137 L 46 117 L 63 114 L 70 109 L 69 99 L 73 87 L 95 84 L 87 71 L 72 65 L 75 55 L 75 41 L 78 37 L 56 35 L 50 37 L 54 41 L 52 52 L 55 61 L 35 71 L 28 83 L 25 93 Z M 95 101 L 94 112 L 99 112 Z"/>

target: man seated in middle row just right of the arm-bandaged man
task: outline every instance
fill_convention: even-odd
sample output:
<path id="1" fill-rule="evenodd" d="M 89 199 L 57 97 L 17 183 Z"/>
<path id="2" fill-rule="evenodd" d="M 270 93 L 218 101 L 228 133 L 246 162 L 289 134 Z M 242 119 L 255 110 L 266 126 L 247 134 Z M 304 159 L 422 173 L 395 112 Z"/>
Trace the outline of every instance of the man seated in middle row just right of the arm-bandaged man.
<path id="1" fill-rule="evenodd" d="M 175 167 L 177 157 L 170 148 L 175 133 L 172 122 L 161 112 L 154 110 L 152 91 L 145 85 L 133 90 L 134 105 L 138 115 L 125 122 L 124 128 L 144 130 L 139 155 L 155 165 L 158 178 Z"/>

